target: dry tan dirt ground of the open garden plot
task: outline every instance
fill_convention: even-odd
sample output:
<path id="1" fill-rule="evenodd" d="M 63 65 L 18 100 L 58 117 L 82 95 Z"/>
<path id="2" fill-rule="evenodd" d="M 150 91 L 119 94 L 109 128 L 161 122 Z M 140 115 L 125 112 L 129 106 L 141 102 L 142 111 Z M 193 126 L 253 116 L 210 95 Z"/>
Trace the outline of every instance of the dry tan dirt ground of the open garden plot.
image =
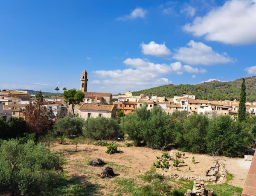
<path id="1" fill-rule="evenodd" d="M 124 143 L 121 143 L 125 146 Z M 64 153 L 67 164 L 64 165 L 64 170 L 67 175 L 72 177 L 79 177 L 81 179 L 81 185 L 86 182 L 91 184 L 99 184 L 101 187 L 100 194 L 106 195 L 108 193 L 113 194 L 113 190 L 116 188 L 114 183 L 115 178 L 101 179 L 97 174 L 102 172 L 104 167 L 93 167 L 89 165 L 91 160 L 101 158 L 107 164 L 111 166 L 118 177 L 132 178 L 136 182 L 141 182 L 140 178 L 136 176 L 143 175 L 146 171 L 150 170 L 153 162 L 156 162 L 156 156 L 163 154 L 160 150 L 151 150 L 147 147 L 119 147 L 122 153 L 116 153 L 113 155 L 105 153 L 106 147 L 95 146 L 92 144 L 79 144 L 78 152 L 75 152 L 75 145 L 73 144 L 54 144 L 51 147 L 52 151 L 56 153 Z M 174 152 L 168 152 L 172 153 Z M 195 157 L 195 163 L 192 163 L 192 157 Z M 179 167 L 179 171 L 170 169 L 171 173 L 186 174 L 189 176 L 204 176 L 206 170 L 215 166 L 212 156 L 201 154 L 190 154 L 185 152 L 183 158 L 185 163 L 183 167 Z M 229 173 L 233 174 L 234 178 L 229 182 L 230 185 L 243 187 L 246 179 L 248 169 L 250 167 L 250 161 L 244 161 L 239 158 L 226 158 L 216 157 L 221 163 L 224 163 Z M 189 167 L 191 170 L 189 171 Z"/>

